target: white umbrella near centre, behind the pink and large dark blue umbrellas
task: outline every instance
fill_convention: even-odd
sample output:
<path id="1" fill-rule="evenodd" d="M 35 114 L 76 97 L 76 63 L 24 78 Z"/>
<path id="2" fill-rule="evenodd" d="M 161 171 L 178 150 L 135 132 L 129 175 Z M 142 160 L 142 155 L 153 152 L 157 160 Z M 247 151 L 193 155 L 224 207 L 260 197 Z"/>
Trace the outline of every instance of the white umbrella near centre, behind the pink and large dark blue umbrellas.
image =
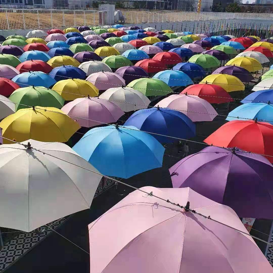
<path id="1" fill-rule="evenodd" d="M 124 112 L 146 109 L 151 102 L 143 93 L 131 87 L 109 88 L 99 98 L 110 100 Z"/>

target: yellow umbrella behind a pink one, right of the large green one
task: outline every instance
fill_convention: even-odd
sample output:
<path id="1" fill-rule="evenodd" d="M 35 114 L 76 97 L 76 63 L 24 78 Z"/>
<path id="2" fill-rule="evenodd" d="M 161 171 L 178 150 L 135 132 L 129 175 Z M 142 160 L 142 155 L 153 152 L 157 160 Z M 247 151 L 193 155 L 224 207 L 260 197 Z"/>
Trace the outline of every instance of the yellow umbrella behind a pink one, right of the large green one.
<path id="1" fill-rule="evenodd" d="M 91 82 L 80 79 L 58 81 L 52 90 L 59 93 L 65 100 L 75 100 L 82 97 L 99 96 L 99 89 Z"/>

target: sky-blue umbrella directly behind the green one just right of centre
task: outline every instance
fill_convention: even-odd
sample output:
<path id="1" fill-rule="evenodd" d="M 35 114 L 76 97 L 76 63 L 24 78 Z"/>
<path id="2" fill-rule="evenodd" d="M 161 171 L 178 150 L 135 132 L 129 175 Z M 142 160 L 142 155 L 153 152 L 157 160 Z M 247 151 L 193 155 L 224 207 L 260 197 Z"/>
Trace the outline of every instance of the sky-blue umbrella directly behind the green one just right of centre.
<path id="1" fill-rule="evenodd" d="M 169 86 L 186 86 L 193 84 L 191 78 L 184 72 L 179 70 L 164 70 L 153 76 L 154 79 L 159 79 Z"/>

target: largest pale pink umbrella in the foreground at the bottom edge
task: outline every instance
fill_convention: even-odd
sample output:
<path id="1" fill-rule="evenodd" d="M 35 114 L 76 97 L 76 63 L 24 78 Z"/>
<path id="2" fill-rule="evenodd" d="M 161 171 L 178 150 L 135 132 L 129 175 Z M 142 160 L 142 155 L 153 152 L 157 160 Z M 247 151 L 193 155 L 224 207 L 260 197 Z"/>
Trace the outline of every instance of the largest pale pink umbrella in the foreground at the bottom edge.
<path id="1" fill-rule="evenodd" d="M 234 210 L 190 188 L 140 189 L 189 202 L 196 212 L 247 233 Z M 253 239 L 231 227 L 136 190 L 88 225 L 90 272 L 272 272 Z"/>

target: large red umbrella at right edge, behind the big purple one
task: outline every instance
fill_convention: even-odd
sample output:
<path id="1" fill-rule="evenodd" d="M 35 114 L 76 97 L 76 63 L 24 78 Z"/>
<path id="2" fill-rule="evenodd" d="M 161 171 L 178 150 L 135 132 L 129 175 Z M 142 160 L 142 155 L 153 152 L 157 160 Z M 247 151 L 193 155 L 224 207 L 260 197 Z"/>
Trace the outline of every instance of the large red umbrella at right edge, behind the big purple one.
<path id="1" fill-rule="evenodd" d="M 254 120 L 229 121 L 208 136 L 204 142 L 219 147 L 238 147 L 260 153 L 273 163 L 273 125 Z"/>

